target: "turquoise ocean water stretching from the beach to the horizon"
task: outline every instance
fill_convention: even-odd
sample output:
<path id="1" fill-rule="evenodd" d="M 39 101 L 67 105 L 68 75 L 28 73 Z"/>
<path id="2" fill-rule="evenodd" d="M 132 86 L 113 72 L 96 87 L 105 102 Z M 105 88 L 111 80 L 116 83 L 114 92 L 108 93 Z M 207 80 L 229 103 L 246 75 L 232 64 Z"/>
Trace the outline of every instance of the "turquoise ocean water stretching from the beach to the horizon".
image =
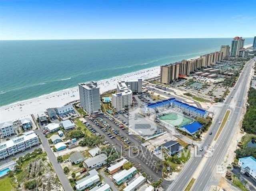
<path id="1" fill-rule="evenodd" d="M 219 51 L 231 38 L 0 41 L 0 106 Z M 246 38 L 245 44 L 251 44 Z"/>

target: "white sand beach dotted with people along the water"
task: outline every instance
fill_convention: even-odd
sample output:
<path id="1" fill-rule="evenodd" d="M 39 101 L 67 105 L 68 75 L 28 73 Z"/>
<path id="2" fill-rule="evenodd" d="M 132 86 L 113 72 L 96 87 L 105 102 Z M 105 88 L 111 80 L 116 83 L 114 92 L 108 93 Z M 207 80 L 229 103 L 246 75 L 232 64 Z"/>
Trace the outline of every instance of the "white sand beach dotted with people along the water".
<path id="1" fill-rule="evenodd" d="M 252 45 L 244 45 L 244 48 L 250 46 Z M 196 59 L 197 57 L 190 59 Z M 160 66 L 155 66 L 112 77 L 110 79 L 102 79 L 98 81 L 98 86 L 100 87 L 100 94 L 102 94 L 116 89 L 116 83 L 120 80 L 145 80 L 159 75 Z M 31 114 L 37 114 L 39 111 L 45 111 L 47 108 L 64 106 L 65 104 L 76 100 L 79 100 L 78 86 L 0 106 L 0 123 L 9 120 L 15 121 L 24 117 L 31 117 Z"/>

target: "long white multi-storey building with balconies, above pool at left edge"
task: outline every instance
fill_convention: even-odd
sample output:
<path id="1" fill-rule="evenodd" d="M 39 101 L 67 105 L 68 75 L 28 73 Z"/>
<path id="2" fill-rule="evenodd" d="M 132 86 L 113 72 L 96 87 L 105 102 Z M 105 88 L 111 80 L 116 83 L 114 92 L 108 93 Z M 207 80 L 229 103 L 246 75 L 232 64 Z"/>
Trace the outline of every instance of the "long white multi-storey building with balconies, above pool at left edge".
<path id="1" fill-rule="evenodd" d="M 0 143 L 0 159 L 14 156 L 14 154 L 38 144 L 38 137 L 34 131 L 25 132 L 22 136 Z"/>

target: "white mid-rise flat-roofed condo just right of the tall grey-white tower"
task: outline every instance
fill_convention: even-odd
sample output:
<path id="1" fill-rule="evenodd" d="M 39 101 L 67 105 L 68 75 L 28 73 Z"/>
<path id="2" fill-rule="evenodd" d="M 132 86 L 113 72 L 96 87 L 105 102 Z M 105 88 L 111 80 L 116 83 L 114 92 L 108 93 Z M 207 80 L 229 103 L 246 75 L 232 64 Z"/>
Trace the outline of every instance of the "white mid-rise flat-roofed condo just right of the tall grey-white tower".
<path id="1" fill-rule="evenodd" d="M 112 94 L 112 106 L 116 112 L 132 106 L 132 91 L 124 81 L 117 83 L 117 93 Z"/>

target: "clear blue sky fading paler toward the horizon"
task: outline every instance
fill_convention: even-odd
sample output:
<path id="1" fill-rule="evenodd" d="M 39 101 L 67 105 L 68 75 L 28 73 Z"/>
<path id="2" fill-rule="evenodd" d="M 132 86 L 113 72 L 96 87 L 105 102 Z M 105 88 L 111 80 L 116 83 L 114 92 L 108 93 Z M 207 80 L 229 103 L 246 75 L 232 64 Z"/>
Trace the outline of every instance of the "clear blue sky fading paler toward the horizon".
<path id="1" fill-rule="evenodd" d="M 254 37 L 255 0 L 0 0 L 0 40 Z"/>

